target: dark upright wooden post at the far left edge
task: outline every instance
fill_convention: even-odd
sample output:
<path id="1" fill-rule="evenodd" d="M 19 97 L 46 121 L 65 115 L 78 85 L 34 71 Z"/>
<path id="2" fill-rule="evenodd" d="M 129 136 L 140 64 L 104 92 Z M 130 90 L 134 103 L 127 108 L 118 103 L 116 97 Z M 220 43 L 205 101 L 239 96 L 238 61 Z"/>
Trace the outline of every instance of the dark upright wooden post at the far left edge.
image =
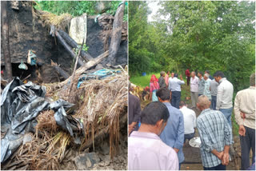
<path id="1" fill-rule="evenodd" d="M 7 18 L 7 2 L 1 2 L 1 24 L 2 24 L 2 51 L 5 59 L 5 75 L 6 79 L 10 82 L 13 77 L 10 59 L 10 43 L 9 43 L 9 26 Z"/>

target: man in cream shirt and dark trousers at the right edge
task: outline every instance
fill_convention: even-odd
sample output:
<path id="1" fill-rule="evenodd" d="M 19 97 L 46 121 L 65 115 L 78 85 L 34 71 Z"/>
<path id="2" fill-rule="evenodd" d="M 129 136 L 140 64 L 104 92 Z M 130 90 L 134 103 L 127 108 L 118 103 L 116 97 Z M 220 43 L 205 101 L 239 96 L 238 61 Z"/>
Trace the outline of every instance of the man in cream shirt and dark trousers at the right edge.
<path id="1" fill-rule="evenodd" d="M 255 73 L 250 75 L 250 88 L 238 91 L 234 99 L 234 116 L 239 125 L 241 145 L 241 169 L 250 166 L 250 149 L 253 150 L 252 163 L 255 157 Z"/>

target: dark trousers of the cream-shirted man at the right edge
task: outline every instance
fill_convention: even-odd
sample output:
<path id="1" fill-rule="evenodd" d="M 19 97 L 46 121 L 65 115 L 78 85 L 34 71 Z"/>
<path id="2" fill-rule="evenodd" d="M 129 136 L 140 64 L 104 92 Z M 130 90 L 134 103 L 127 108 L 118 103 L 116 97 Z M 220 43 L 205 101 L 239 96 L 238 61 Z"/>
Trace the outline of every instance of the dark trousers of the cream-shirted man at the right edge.
<path id="1" fill-rule="evenodd" d="M 246 170 L 250 166 L 250 149 L 253 149 L 253 160 L 255 157 L 255 129 L 251 129 L 245 126 L 246 136 L 240 135 L 241 145 L 241 169 Z M 254 163 L 254 161 L 252 161 Z"/>

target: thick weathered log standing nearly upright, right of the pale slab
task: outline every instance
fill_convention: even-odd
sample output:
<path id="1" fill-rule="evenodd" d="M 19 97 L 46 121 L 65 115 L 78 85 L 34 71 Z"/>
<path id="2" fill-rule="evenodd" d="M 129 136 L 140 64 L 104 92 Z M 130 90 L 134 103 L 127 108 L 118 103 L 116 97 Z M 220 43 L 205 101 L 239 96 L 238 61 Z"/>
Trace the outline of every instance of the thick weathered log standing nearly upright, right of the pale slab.
<path id="1" fill-rule="evenodd" d="M 115 65 L 116 62 L 116 55 L 118 54 L 118 49 L 120 46 L 121 38 L 122 38 L 122 19 L 125 10 L 125 3 L 118 6 L 118 10 L 114 15 L 114 23 L 113 23 L 113 30 L 110 42 L 110 55 L 108 58 L 108 63 L 112 66 Z"/>

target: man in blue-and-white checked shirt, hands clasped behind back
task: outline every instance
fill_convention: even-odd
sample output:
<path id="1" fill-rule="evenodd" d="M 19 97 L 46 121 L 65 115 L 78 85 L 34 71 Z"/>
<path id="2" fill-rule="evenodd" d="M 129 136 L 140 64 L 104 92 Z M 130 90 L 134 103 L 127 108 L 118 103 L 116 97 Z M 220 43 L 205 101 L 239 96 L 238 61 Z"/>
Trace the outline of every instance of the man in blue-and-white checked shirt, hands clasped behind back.
<path id="1" fill-rule="evenodd" d="M 208 97 L 198 97 L 198 133 L 202 144 L 200 152 L 205 170 L 226 170 L 230 161 L 230 145 L 233 137 L 230 125 L 222 112 L 210 109 Z"/>

